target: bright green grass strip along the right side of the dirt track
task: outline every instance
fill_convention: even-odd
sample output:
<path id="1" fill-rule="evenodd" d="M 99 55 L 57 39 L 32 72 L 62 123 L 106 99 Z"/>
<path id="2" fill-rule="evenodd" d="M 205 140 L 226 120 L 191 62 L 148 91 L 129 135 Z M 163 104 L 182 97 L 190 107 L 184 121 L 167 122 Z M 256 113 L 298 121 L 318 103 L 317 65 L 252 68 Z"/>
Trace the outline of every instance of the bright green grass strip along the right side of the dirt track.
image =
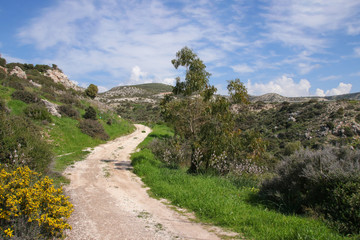
<path id="1" fill-rule="evenodd" d="M 234 184 L 227 178 L 189 175 L 185 170 L 169 169 L 146 148 L 152 138 L 170 136 L 165 127 L 156 126 L 132 154 L 136 174 L 151 188 L 156 197 L 194 211 L 206 222 L 229 228 L 248 239 L 351 239 L 329 229 L 319 220 L 288 216 L 257 204 L 257 189 L 248 184 Z M 246 181 L 245 181 L 246 182 Z M 353 238 L 356 239 L 356 238 Z"/>

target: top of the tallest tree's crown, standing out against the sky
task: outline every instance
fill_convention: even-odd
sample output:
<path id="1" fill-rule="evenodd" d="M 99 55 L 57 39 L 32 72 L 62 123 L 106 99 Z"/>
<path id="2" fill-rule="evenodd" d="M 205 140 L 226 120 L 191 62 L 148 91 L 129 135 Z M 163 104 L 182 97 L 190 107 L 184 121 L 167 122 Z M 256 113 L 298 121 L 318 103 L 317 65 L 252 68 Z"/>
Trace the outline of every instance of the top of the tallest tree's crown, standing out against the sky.
<path id="1" fill-rule="evenodd" d="M 186 68 L 185 81 L 176 79 L 174 94 L 191 95 L 194 92 L 202 92 L 208 87 L 211 74 L 205 70 L 206 65 L 190 48 L 184 47 L 178 51 L 171 63 L 176 69 L 179 66 Z"/>

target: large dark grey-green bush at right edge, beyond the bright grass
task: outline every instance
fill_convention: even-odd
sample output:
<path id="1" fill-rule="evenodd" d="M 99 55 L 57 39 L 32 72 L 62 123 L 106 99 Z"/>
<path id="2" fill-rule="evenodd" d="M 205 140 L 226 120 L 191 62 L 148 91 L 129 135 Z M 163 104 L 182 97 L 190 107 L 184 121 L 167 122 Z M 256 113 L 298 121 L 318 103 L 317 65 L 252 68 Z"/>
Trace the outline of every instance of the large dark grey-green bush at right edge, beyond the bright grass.
<path id="1" fill-rule="evenodd" d="M 286 157 L 260 196 L 285 212 L 313 211 L 342 233 L 360 233 L 360 151 L 324 148 Z M 357 206 L 357 207 L 355 207 Z"/>

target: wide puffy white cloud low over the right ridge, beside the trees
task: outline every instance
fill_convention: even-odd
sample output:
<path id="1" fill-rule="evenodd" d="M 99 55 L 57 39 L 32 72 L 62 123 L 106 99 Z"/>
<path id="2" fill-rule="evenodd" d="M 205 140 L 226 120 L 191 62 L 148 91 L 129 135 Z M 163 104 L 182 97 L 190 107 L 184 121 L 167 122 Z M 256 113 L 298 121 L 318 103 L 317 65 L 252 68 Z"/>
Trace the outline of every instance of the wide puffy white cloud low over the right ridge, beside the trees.
<path id="1" fill-rule="evenodd" d="M 253 84 L 250 80 L 248 80 L 246 87 L 248 92 L 252 95 L 278 93 L 287 97 L 301 97 L 310 95 L 309 90 L 311 84 L 306 79 L 301 79 L 298 83 L 296 83 L 292 78 L 283 75 L 281 78 L 270 81 L 266 84 Z"/>

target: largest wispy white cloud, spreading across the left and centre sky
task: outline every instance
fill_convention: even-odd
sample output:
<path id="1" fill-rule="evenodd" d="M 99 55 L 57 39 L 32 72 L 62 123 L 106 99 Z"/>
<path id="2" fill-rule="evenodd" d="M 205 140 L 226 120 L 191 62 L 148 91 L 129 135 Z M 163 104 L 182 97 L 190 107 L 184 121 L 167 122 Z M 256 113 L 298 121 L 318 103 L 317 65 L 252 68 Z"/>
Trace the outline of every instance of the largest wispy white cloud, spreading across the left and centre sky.
<path id="1" fill-rule="evenodd" d="M 184 46 L 193 48 L 206 65 L 223 66 L 228 61 L 224 50 L 246 45 L 239 24 L 228 28 L 219 20 L 224 12 L 216 4 L 184 1 L 174 8 L 158 0 L 57 1 L 30 19 L 18 37 L 52 52 L 46 61 L 56 62 L 78 81 L 94 72 L 123 81 L 133 66 L 161 81 L 175 75 L 170 61 Z"/>

